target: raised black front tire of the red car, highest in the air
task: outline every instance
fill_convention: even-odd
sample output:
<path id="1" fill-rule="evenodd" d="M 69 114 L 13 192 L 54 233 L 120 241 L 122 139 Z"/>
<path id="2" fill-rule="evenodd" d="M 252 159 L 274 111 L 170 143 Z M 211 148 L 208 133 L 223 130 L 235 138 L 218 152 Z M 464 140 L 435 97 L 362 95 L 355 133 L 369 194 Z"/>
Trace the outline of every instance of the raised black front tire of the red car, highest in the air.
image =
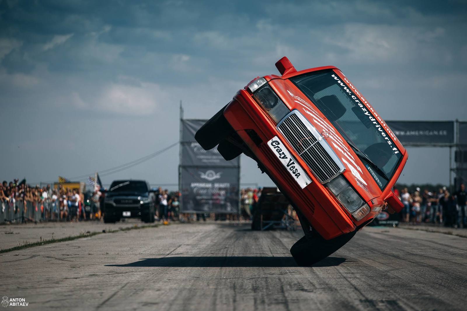
<path id="1" fill-rule="evenodd" d="M 227 106 L 227 105 L 226 105 Z M 233 132 L 232 126 L 224 116 L 224 106 L 214 114 L 195 134 L 195 139 L 205 150 L 216 147 L 220 141 Z"/>

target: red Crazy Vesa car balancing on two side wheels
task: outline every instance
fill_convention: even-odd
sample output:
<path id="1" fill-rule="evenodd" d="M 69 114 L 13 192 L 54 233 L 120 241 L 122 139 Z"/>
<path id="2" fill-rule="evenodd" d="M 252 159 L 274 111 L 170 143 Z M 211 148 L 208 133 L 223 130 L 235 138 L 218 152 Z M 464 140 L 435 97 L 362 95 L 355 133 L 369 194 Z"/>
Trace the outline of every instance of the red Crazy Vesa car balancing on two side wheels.
<path id="1" fill-rule="evenodd" d="M 381 211 L 399 212 L 391 190 L 407 151 L 373 106 L 334 66 L 252 80 L 196 133 L 206 150 L 255 159 L 289 198 L 304 229 L 290 249 L 311 265 L 346 244 Z"/>

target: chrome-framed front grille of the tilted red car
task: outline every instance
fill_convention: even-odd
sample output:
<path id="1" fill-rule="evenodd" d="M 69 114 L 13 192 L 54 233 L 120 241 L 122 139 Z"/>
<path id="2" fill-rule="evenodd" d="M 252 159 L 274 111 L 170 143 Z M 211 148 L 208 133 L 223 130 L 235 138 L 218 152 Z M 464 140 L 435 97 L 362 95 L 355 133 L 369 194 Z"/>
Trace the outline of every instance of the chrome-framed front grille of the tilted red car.
<path id="1" fill-rule="evenodd" d="M 304 122 L 308 124 L 305 125 Z M 278 125 L 279 130 L 315 176 L 321 183 L 325 183 L 342 172 L 344 168 L 342 163 L 338 163 L 339 159 L 335 155 L 334 159 L 330 155 L 334 153 L 333 150 L 324 140 L 318 140 L 309 127 L 312 127 L 311 124 L 298 112 L 290 113 Z"/>

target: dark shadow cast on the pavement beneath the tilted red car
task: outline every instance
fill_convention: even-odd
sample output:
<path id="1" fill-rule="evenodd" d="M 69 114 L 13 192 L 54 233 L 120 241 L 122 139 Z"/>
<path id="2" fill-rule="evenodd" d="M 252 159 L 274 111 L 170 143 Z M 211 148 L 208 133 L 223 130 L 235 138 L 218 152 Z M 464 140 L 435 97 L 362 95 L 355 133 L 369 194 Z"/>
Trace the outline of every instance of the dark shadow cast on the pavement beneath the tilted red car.
<path id="1" fill-rule="evenodd" d="M 313 267 L 333 267 L 345 262 L 342 257 L 327 257 Z M 138 262 L 107 267 L 297 267 L 291 256 L 179 256 L 144 258 Z"/>

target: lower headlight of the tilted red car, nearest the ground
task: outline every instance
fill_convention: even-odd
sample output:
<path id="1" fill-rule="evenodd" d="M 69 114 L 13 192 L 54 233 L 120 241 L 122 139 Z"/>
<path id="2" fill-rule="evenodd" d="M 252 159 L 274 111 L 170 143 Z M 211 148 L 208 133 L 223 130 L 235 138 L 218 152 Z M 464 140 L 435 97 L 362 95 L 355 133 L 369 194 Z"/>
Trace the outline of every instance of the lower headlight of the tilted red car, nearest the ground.
<path id="1" fill-rule="evenodd" d="M 356 220 L 361 220 L 370 212 L 368 205 L 342 175 L 331 180 L 326 186 Z"/>

